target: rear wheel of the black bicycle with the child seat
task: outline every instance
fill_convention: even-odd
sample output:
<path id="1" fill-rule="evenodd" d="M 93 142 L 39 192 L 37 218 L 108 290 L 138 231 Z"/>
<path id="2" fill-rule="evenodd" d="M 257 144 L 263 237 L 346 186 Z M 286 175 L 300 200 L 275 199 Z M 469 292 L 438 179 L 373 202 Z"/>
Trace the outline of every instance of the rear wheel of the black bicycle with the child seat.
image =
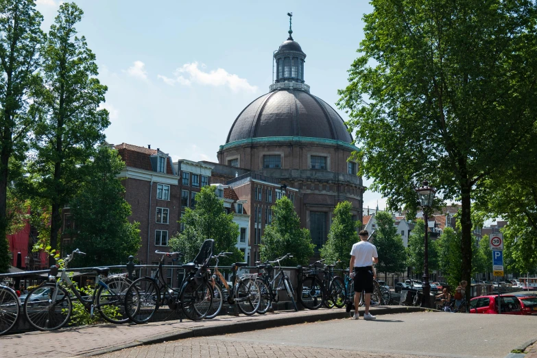
<path id="1" fill-rule="evenodd" d="M 204 318 L 213 305 L 213 289 L 206 282 L 195 283 L 192 279 L 181 292 L 181 309 L 189 320 Z"/>

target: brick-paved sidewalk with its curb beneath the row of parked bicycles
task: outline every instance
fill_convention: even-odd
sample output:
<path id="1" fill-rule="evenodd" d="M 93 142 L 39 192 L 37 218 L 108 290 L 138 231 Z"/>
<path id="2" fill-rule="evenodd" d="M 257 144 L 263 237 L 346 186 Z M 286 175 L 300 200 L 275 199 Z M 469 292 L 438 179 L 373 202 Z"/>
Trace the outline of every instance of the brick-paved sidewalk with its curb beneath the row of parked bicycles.
<path id="1" fill-rule="evenodd" d="M 362 311 L 362 309 L 360 309 Z M 422 311 L 419 307 L 372 307 L 374 315 Z M 362 313 L 363 314 L 363 313 Z M 276 326 L 348 317 L 344 309 L 276 311 L 265 315 L 222 316 L 193 322 L 171 320 L 150 324 L 99 324 L 53 332 L 31 332 L 0 337 L 5 357 L 88 357 L 115 350 L 175 339 L 222 335 Z"/>

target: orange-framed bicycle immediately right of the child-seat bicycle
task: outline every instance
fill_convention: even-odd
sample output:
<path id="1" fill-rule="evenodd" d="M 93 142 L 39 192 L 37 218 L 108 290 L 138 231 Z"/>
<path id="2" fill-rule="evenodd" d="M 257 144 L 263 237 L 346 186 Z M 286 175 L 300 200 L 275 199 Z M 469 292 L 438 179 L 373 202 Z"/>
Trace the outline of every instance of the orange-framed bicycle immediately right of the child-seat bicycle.
<path id="1" fill-rule="evenodd" d="M 261 303 L 261 292 L 259 285 L 256 283 L 257 274 L 242 274 L 237 275 L 239 267 L 248 266 L 246 262 L 236 262 L 232 265 L 231 287 L 226 281 L 226 278 L 218 270 L 218 261 L 220 257 L 227 257 L 232 252 L 220 252 L 212 256 L 211 259 L 216 261 L 213 275 L 209 278 L 209 285 L 213 289 L 213 303 L 205 318 L 215 318 L 222 310 L 224 302 L 230 305 L 237 303 L 237 306 L 245 315 L 253 315 L 259 309 Z M 210 271 L 208 274 L 211 275 Z M 224 285 L 218 282 L 220 281 Z"/>

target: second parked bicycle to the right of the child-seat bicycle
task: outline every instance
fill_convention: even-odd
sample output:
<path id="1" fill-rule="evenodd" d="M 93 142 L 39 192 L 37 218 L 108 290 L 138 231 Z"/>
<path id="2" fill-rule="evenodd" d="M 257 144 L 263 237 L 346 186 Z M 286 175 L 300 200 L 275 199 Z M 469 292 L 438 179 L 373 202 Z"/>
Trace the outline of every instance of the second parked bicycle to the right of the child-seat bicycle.
<path id="1" fill-rule="evenodd" d="M 291 259 L 292 257 L 293 256 L 291 256 L 291 254 L 285 254 L 274 261 L 266 261 L 265 263 L 260 263 L 259 261 L 256 262 L 256 264 L 259 263 L 259 265 L 256 266 L 257 270 L 259 271 L 259 276 L 256 278 L 256 283 L 259 285 L 259 290 L 261 292 L 261 302 L 257 313 L 267 313 L 272 306 L 272 302 L 279 301 L 278 291 L 283 291 L 284 289 L 287 292 L 287 297 L 293 303 L 295 311 L 298 311 L 291 281 L 289 281 L 289 276 L 287 276 L 283 270 L 283 267 L 281 266 L 281 261 Z M 271 273 L 274 268 L 278 269 L 278 274 L 271 279 Z"/>

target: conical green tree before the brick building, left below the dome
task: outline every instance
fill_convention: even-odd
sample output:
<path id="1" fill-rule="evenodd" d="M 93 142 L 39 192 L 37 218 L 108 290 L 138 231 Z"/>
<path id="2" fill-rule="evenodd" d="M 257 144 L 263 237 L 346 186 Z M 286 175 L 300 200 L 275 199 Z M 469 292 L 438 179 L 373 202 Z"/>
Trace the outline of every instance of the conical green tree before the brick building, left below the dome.
<path id="1" fill-rule="evenodd" d="M 311 243 L 309 230 L 300 228 L 300 219 L 291 200 L 286 196 L 276 200 L 272 211 L 272 223 L 265 226 L 263 244 L 259 249 L 261 261 L 274 260 L 289 252 L 294 257 L 283 261 L 283 265 L 308 263 L 315 245 Z"/>

